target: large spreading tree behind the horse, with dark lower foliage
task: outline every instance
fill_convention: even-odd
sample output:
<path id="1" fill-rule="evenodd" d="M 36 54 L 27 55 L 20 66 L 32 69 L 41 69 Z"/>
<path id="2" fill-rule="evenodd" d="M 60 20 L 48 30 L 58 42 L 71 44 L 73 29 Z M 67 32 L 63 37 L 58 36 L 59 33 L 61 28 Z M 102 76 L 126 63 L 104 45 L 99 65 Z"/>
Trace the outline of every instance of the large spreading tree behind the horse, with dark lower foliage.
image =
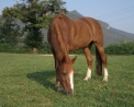
<path id="1" fill-rule="evenodd" d="M 20 20 L 27 33 L 24 40 L 30 48 L 40 48 L 43 36 L 40 28 L 47 28 L 55 14 L 67 12 L 63 0 L 20 0 L 12 8 L 5 8 L 2 16 L 5 20 Z"/>

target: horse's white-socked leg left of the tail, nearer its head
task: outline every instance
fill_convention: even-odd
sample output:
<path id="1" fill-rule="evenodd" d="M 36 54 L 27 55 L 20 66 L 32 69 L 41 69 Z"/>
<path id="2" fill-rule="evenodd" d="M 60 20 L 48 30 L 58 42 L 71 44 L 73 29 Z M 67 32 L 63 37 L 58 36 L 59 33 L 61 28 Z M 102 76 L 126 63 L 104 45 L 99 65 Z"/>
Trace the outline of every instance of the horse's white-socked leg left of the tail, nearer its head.
<path id="1" fill-rule="evenodd" d="M 83 52 L 85 52 L 85 56 L 87 58 L 87 63 L 88 63 L 88 71 L 83 80 L 88 81 L 89 79 L 91 79 L 92 57 L 88 47 L 85 48 Z"/>

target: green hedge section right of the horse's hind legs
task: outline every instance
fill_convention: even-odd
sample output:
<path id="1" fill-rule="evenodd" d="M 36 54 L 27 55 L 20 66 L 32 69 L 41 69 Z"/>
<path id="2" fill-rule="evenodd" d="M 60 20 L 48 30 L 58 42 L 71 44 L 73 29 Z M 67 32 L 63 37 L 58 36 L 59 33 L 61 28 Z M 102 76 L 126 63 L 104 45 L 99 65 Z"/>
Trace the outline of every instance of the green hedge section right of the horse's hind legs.
<path id="1" fill-rule="evenodd" d="M 134 55 L 134 41 L 110 45 L 105 51 L 108 55 Z"/>

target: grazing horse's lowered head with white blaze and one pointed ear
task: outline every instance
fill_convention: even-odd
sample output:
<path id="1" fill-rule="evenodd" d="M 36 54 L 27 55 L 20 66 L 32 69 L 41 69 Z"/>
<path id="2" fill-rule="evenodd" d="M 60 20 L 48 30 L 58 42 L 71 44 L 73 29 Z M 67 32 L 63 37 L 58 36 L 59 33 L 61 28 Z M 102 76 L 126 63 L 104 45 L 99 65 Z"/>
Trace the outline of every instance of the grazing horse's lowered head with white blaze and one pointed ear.
<path id="1" fill-rule="evenodd" d="M 64 91 L 66 94 L 74 94 L 74 73 L 75 69 L 72 63 L 77 57 L 69 62 L 58 64 L 56 69 L 57 81 L 59 82 L 58 91 Z"/>

